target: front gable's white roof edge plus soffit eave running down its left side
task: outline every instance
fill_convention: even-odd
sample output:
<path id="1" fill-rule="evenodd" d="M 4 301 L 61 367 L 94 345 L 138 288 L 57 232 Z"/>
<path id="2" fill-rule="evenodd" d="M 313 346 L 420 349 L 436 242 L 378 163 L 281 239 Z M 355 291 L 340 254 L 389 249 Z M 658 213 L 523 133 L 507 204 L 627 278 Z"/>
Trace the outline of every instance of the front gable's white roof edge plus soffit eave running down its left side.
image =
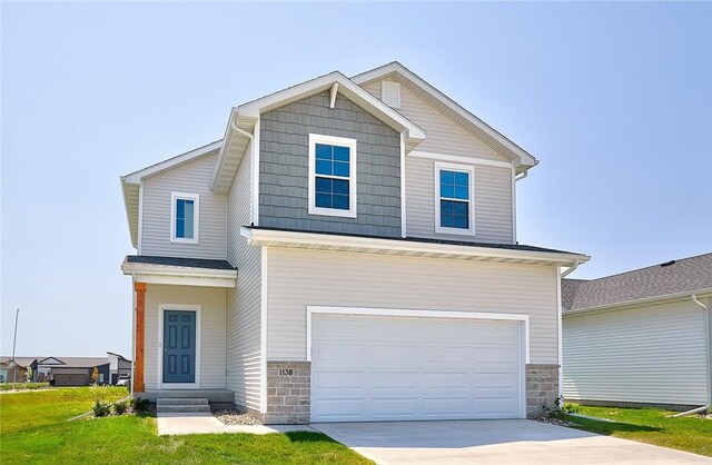
<path id="1" fill-rule="evenodd" d="M 343 95 L 398 132 L 405 131 L 406 139 L 423 140 L 425 138 L 425 131 L 416 123 L 372 96 L 339 71 L 333 71 L 234 107 L 225 129 L 222 138 L 225 144 L 220 149 L 210 189 L 219 194 L 227 194 L 230 189 L 239 162 L 251 141 L 250 136 L 255 131 L 255 122 L 261 113 L 332 89 L 335 85 L 337 85 L 337 93 Z"/>

